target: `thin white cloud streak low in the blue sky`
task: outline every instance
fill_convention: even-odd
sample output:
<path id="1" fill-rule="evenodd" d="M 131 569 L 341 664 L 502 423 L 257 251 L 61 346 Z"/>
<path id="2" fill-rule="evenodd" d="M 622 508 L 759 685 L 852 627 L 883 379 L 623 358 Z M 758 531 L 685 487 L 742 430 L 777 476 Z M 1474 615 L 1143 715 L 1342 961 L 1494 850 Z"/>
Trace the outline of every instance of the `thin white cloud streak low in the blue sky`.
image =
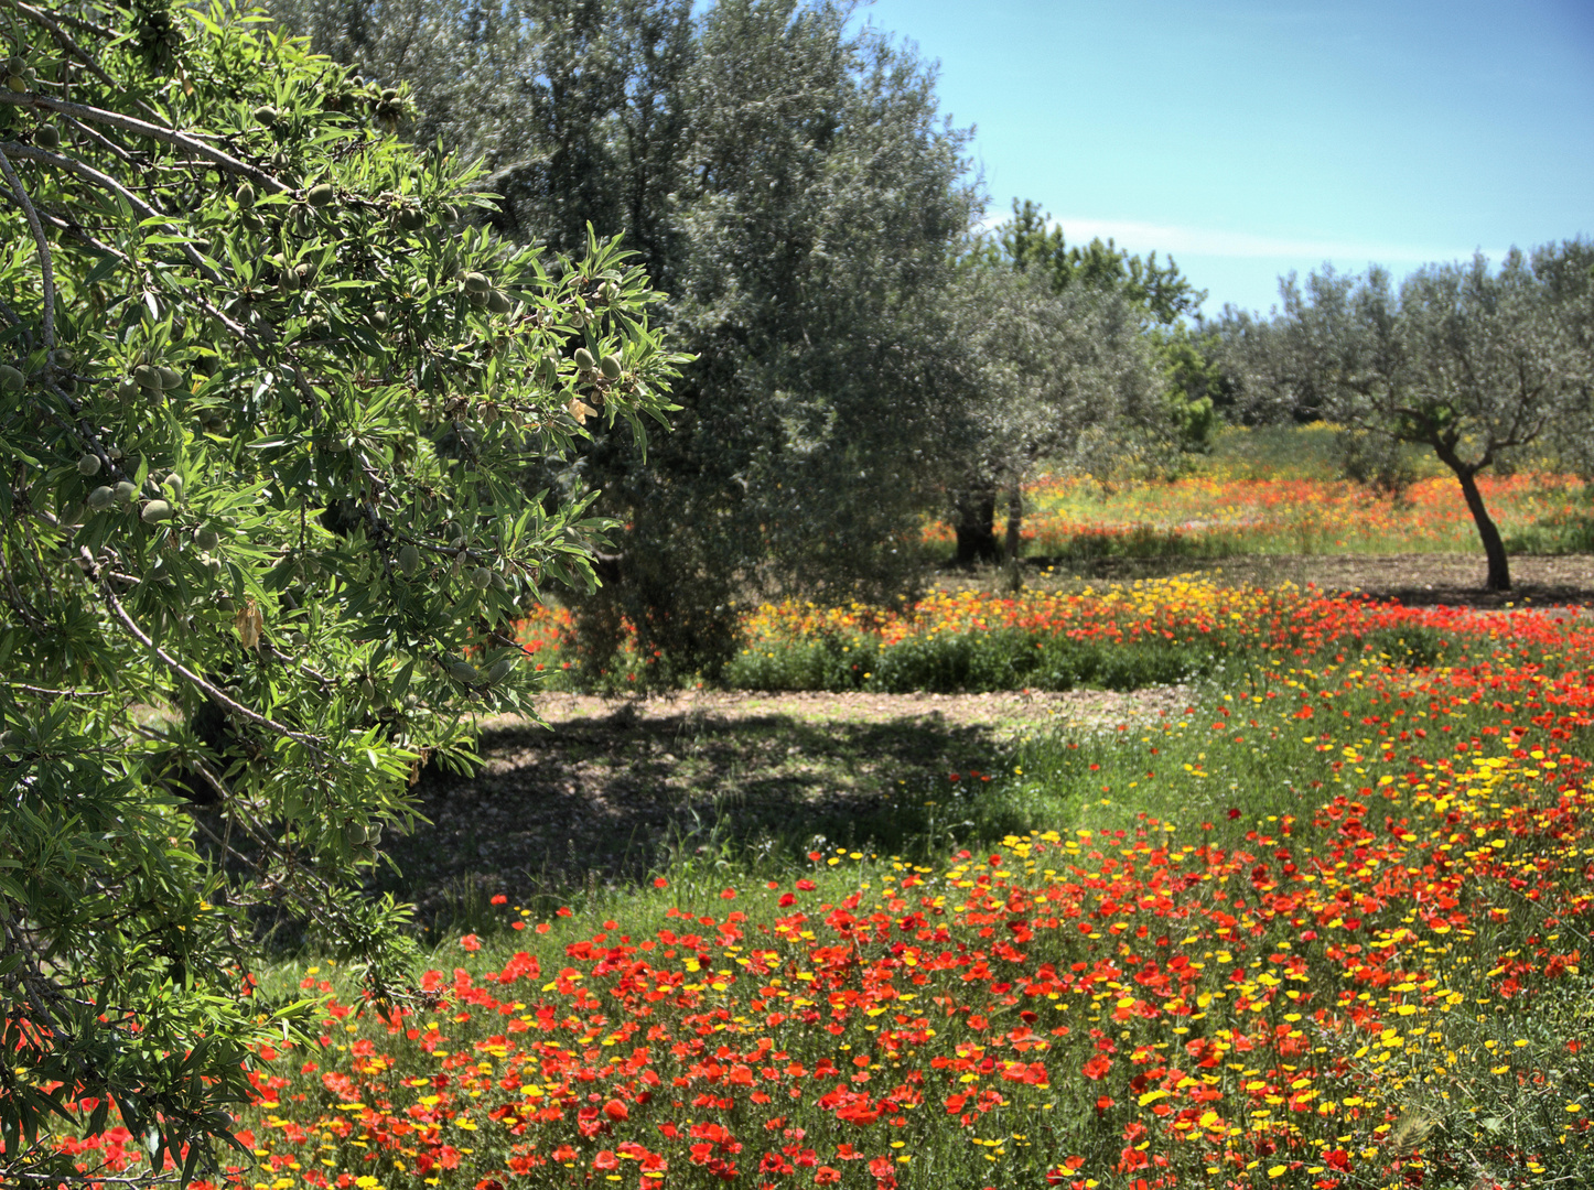
<path id="1" fill-rule="evenodd" d="M 1001 220 L 991 221 L 999 223 Z M 1140 223 L 1135 220 L 1070 217 L 1050 220 L 1062 226 L 1070 244 L 1089 244 L 1100 236 L 1113 239 L 1133 252 L 1156 249 L 1173 256 L 1234 256 L 1267 260 L 1334 260 L 1350 266 L 1377 263 L 1428 263 L 1468 260 L 1473 249 L 1438 249 L 1412 244 L 1372 244 L 1361 241 L 1310 239 L 1294 236 L 1256 236 L 1248 231 L 1223 231 L 1216 228 L 1181 228 L 1178 225 Z M 1486 250 L 1490 260 L 1503 252 Z"/>

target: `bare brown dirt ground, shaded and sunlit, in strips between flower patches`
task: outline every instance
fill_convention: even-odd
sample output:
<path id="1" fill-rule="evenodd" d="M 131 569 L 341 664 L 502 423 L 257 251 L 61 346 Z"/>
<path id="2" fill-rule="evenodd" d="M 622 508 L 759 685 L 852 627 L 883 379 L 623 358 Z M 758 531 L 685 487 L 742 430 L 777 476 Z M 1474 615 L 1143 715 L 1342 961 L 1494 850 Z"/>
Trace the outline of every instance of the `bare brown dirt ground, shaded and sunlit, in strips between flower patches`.
<path id="1" fill-rule="evenodd" d="M 1517 589 L 1481 591 L 1482 559 L 1248 558 L 1197 567 L 1101 564 L 1036 585 L 1218 572 L 1229 581 L 1315 583 L 1408 604 L 1594 604 L 1594 558 L 1516 558 Z M 995 588 L 999 573 L 952 585 Z M 402 876 L 381 887 L 424 919 L 469 921 L 488 897 L 529 903 L 572 886 L 639 879 L 668 862 L 713 863 L 730 847 L 792 851 L 874 838 L 889 846 L 905 816 L 1012 763 L 1015 739 L 1054 725 L 1089 731 L 1178 714 L 1188 693 L 864 695 L 681 691 L 644 699 L 547 695 L 547 726 L 485 723 L 485 765 L 418 789 L 432 825 L 394 841 Z"/>

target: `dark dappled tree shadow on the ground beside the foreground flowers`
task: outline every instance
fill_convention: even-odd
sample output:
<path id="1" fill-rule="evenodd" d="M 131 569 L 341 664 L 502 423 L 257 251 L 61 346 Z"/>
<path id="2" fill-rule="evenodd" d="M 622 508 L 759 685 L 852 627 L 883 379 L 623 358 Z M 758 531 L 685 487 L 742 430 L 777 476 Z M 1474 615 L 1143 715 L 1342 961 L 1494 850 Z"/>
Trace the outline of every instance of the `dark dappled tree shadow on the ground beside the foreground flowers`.
<path id="1" fill-rule="evenodd" d="M 481 738 L 478 773 L 422 781 L 432 825 L 392 838 L 397 870 L 384 865 L 373 891 L 443 927 L 494 894 L 531 905 L 679 860 L 837 846 L 923 855 L 950 843 L 960 806 L 1011 752 L 991 726 L 939 714 L 641 717 L 623 704 L 552 730 L 512 726 Z"/>

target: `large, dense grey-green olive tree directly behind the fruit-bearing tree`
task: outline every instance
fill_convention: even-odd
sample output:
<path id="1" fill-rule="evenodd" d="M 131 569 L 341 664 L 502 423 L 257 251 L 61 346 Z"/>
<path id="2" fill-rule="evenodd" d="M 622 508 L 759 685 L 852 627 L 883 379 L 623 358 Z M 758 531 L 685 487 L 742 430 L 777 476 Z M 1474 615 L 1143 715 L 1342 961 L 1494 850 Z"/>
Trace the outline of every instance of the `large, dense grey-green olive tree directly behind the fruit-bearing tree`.
<path id="1" fill-rule="evenodd" d="M 953 252 L 977 196 L 934 72 L 846 3 L 697 8 L 273 0 L 370 75 L 414 64 L 421 126 L 483 155 L 505 234 L 564 245 L 590 218 L 669 293 L 695 357 L 674 432 L 646 459 L 598 432 L 547 480 L 626 526 L 579 601 L 593 664 L 630 623 L 662 680 L 713 672 L 748 599 L 910 585 L 971 378 Z"/>

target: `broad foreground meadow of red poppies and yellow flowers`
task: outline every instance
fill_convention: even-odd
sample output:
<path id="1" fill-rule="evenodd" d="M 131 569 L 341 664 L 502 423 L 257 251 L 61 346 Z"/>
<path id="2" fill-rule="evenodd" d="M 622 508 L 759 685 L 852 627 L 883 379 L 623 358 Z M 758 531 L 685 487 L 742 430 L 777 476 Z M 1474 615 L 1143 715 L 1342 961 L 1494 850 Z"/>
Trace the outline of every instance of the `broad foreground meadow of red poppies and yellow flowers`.
<path id="1" fill-rule="evenodd" d="M 1591 1184 L 1594 624 L 1113 597 L 1076 628 L 1223 653 L 1183 715 L 913 793 L 1049 822 L 504 905 L 397 1012 L 325 961 L 271 972 L 330 997 L 322 1043 L 260 1053 L 220 1182 Z M 1027 615 L 955 607 L 948 637 Z M 112 1129 L 80 1160 L 137 1153 Z"/>

